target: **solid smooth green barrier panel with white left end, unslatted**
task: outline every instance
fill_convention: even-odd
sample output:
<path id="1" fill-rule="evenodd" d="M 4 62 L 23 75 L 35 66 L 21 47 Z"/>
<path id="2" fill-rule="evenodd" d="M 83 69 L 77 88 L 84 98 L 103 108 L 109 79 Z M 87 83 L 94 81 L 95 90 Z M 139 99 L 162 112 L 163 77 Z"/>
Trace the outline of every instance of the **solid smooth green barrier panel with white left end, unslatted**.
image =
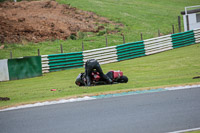
<path id="1" fill-rule="evenodd" d="M 40 56 L 0 60 L 0 81 L 42 76 Z"/>

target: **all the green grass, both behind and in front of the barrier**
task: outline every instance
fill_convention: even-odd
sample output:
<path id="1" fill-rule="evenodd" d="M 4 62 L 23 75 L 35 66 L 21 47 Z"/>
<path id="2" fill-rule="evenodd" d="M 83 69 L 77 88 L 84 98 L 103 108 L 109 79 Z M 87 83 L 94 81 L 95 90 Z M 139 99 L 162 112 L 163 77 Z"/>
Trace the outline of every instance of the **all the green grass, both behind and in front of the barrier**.
<path id="1" fill-rule="evenodd" d="M 115 22 L 124 24 L 117 34 L 108 35 L 108 45 L 122 44 L 122 32 L 126 42 L 148 39 L 157 36 L 160 29 L 162 34 L 172 31 L 172 24 L 178 31 L 177 16 L 185 6 L 199 5 L 199 0 L 57 0 L 59 3 L 71 4 L 82 10 L 93 11 Z M 182 23 L 183 31 L 183 23 Z M 64 52 L 81 51 L 82 41 L 85 50 L 105 47 L 105 35 L 84 33 L 78 40 L 55 40 L 40 43 L 24 41 L 22 44 L 4 44 L 0 50 L 0 59 L 13 57 L 60 53 L 60 44 Z M 1 45 L 1 44 L 0 44 Z M 0 82 L 0 97 L 9 97 L 10 101 L 0 101 L 0 108 L 38 101 L 55 100 L 75 96 L 108 93 L 111 91 L 128 91 L 138 88 L 158 88 L 180 84 L 199 84 L 200 79 L 192 79 L 200 75 L 200 44 L 178 48 L 167 52 L 102 65 L 103 71 L 122 70 L 129 78 L 127 84 L 116 84 L 95 87 L 77 87 L 74 84 L 76 76 L 84 71 L 83 68 L 71 69 L 44 74 L 30 79 Z M 57 89 L 52 92 L 51 89 Z"/>

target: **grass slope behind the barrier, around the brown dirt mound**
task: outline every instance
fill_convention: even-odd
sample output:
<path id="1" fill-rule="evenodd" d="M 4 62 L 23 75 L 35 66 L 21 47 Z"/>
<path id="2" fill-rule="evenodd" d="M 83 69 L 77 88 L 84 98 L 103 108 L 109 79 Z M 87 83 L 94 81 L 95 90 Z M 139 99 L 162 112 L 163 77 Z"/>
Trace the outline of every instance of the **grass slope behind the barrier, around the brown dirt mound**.
<path id="1" fill-rule="evenodd" d="M 82 10 L 92 11 L 100 16 L 107 17 L 115 22 L 124 24 L 120 33 L 108 35 L 108 46 L 122 44 L 122 32 L 126 42 L 157 36 L 158 29 L 162 34 L 172 32 L 172 24 L 178 32 L 178 16 L 185 6 L 199 5 L 199 0 L 57 0 L 62 4 L 71 4 Z M 182 18 L 182 17 L 181 17 Z M 112 26 L 111 26 L 112 27 Z M 107 27 L 110 28 L 109 26 Z M 117 27 L 115 27 L 117 28 Z M 182 23 L 183 31 L 183 23 Z M 77 52 L 82 50 L 81 43 L 85 44 L 85 50 L 105 47 L 105 35 L 97 36 L 85 33 L 83 39 L 78 40 L 55 40 L 38 44 L 23 42 L 23 45 L 5 44 L 0 50 L 0 59 L 37 55 L 40 49 L 41 55 L 60 53 L 60 44 L 63 44 L 64 52 Z M 1 45 L 1 44 L 0 44 Z"/>

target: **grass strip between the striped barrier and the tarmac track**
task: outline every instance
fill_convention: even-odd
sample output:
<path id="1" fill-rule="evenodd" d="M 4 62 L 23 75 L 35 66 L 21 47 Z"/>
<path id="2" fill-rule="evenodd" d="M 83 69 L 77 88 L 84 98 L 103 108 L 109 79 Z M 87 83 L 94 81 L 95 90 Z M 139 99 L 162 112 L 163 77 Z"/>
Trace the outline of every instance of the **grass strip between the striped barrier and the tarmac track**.
<path id="1" fill-rule="evenodd" d="M 127 91 L 138 88 L 159 88 L 180 84 L 200 84 L 200 44 L 173 49 L 159 54 L 102 65 L 103 71 L 121 70 L 128 76 L 126 84 L 78 87 L 74 81 L 84 68 L 51 72 L 41 77 L 0 82 L 0 107 L 37 101 L 55 100 L 72 96 Z M 52 92 L 51 89 L 57 89 Z"/>

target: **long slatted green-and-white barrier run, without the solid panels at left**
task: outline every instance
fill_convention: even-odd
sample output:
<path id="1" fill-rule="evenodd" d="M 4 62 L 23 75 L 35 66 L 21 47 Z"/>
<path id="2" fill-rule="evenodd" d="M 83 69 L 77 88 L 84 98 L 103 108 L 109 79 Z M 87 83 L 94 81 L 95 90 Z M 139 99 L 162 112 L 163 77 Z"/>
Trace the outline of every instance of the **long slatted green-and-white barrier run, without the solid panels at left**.
<path id="1" fill-rule="evenodd" d="M 83 52 L 42 55 L 42 72 L 84 67 L 88 59 L 97 59 L 100 64 L 123 61 L 195 43 L 200 43 L 200 29 Z"/>

